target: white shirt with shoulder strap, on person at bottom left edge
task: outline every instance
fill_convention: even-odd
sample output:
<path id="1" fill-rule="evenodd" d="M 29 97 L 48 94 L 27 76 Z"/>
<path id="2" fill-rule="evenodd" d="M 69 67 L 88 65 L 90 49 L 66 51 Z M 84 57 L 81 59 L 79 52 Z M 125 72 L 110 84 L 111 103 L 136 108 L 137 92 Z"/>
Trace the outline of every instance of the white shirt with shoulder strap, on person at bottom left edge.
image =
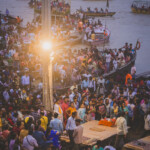
<path id="1" fill-rule="evenodd" d="M 33 136 L 28 135 L 23 139 L 23 147 L 25 147 L 27 150 L 34 150 L 34 147 L 38 147 L 38 144 Z"/>

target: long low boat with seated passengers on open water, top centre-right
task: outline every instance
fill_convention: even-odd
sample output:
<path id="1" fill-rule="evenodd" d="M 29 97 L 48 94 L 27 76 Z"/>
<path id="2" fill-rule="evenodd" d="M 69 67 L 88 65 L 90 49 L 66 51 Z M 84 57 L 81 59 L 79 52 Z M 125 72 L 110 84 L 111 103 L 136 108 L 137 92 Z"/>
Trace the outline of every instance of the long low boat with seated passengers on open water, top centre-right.
<path id="1" fill-rule="evenodd" d="M 84 11 L 82 8 L 78 10 L 78 12 L 83 13 L 86 16 L 92 16 L 92 17 L 106 17 L 106 16 L 113 16 L 116 12 L 109 12 L 106 8 L 103 10 L 102 8 L 98 10 L 98 8 L 95 8 L 94 10 L 91 10 L 91 8 L 87 8 L 86 11 Z"/>

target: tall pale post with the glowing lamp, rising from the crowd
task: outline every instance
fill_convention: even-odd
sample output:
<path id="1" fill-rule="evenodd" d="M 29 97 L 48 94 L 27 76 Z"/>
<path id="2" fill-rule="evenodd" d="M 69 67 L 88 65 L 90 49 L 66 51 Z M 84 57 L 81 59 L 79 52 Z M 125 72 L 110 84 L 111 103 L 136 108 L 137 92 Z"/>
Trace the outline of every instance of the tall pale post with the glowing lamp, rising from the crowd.
<path id="1" fill-rule="evenodd" d="M 51 1 L 42 1 L 42 60 L 43 60 L 43 104 L 53 110 L 52 59 L 50 57 Z"/>

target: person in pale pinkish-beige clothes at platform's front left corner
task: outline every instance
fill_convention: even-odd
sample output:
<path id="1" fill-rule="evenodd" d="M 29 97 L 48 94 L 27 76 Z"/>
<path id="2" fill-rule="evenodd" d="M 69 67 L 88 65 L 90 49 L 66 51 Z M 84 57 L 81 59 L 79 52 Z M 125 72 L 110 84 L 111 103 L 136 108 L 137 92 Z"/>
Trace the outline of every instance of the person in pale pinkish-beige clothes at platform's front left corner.
<path id="1" fill-rule="evenodd" d="M 80 119 L 76 119 L 76 129 L 73 132 L 74 150 L 80 150 L 83 137 L 83 127 L 80 125 Z"/>

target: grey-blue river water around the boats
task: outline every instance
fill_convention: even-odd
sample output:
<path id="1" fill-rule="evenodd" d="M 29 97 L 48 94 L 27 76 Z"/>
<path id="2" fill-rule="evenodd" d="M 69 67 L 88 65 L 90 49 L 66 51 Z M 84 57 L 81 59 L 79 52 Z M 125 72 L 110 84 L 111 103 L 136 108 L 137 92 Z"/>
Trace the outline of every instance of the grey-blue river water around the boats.
<path id="1" fill-rule="evenodd" d="M 21 16 L 24 23 L 31 21 L 34 16 L 33 9 L 28 6 L 29 0 L 0 0 L 0 10 L 5 12 L 9 9 L 10 14 Z M 113 17 L 100 18 L 111 31 L 110 42 L 106 45 L 111 48 L 119 48 L 125 42 L 136 43 L 141 41 L 141 49 L 137 53 L 137 73 L 150 71 L 150 15 L 134 14 L 130 6 L 133 0 L 110 0 L 109 10 L 115 11 Z M 106 7 L 106 1 L 82 1 L 72 0 L 71 11 L 74 12 L 82 6 L 83 9 Z"/>

